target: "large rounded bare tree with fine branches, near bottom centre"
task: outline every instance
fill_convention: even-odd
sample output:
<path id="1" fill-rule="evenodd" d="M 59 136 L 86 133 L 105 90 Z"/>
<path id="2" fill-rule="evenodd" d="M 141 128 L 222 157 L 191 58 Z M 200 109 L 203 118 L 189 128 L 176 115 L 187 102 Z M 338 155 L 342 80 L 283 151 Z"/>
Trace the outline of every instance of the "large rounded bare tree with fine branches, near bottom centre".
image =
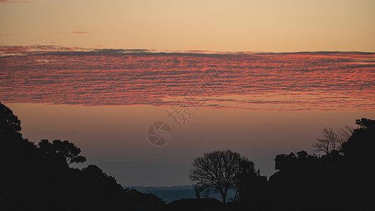
<path id="1" fill-rule="evenodd" d="M 193 161 L 189 179 L 196 190 L 220 193 L 223 203 L 226 203 L 227 191 L 236 187 L 241 160 L 239 153 L 230 150 L 205 153 Z"/>

